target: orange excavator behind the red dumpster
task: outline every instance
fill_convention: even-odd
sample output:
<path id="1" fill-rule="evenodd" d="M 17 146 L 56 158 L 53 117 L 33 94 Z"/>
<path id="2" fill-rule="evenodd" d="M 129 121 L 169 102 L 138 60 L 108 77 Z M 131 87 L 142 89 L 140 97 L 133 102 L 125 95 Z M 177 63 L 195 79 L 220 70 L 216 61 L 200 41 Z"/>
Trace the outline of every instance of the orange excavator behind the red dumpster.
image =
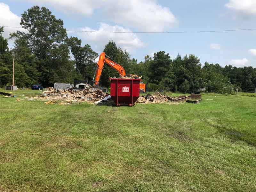
<path id="1" fill-rule="evenodd" d="M 110 57 L 108 57 L 108 55 L 106 55 L 105 52 L 102 52 L 100 54 L 100 58 L 99 58 L 99 61 L 97 63 L 97 68 L 96 68 L 96 71 L 95 71 L 95 75 L 93 77 L 94 86 L 99 85 L 100 76 L 101 76 L 102 69 L 103 69 L 105 63 L 107 63 L 110 67 L 112 67 L 116 71 L 118 71 L 118 73 L 122 77 L 124 77 L 124 76 L 129 76 L 129 77 L 134 76 L 134 78 L 139 78 L 139 76 L 137 76 L 137 75 L 126 75 L 125 70 L 121 65 L 117 64 Z M 95 78 L 95 80 L 94 80 L 94 78 Z M 145 92 L 145 88 L 146 88 L 146 85 L 141 82 L 140 83 L 140 92 Z"/>

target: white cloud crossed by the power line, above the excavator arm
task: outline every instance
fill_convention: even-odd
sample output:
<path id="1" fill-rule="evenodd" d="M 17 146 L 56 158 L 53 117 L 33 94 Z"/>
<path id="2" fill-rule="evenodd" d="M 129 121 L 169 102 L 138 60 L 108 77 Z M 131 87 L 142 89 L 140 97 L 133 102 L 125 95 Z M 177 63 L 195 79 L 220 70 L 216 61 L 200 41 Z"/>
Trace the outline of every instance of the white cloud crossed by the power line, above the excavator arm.
<path id="1" fill-rule="evenodd" d="M 128 28 L 123 28 L 118 25 L 108 25 L 107 23 L 100 23 L 99 29 L 92 29 L 89 27 L 84 27 L 81 30 L 83 31 L 122 31 L 122 32 L 131 32 Z M 126 49 L 129 52 L 134 52 L 134 49 L 147 46 L 140 38 L 134 33 L 95 33 L 88 32 L 76 33 L 76 36 L 79 36 L 86 43 L 95 45 L 99 51 L 104 49 L 104 46 L 108 43 L 109 40 L 113 40 L 117 46 L 120 46 L 123 49 Z"/>

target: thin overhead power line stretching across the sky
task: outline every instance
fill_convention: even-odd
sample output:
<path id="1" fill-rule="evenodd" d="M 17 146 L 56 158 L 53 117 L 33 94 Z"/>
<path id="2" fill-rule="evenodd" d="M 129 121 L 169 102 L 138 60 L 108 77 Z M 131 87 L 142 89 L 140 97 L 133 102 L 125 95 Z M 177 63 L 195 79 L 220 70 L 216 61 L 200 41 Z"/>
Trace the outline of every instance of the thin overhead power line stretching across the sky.
<path id="1" fill-rule="evenodd" d="M 3 26 L 5 28 L 22 28 Z M 210 31 L 83 31 L 83 30 L 66 30 L 67 32 L 84 32 L 84 33 L 218 33 L 218 32 L 229 32 L 229 31 L 254 31 L 256 28 L 247 29 L 225 29 L 225 30 L 210 30 Z"/>

